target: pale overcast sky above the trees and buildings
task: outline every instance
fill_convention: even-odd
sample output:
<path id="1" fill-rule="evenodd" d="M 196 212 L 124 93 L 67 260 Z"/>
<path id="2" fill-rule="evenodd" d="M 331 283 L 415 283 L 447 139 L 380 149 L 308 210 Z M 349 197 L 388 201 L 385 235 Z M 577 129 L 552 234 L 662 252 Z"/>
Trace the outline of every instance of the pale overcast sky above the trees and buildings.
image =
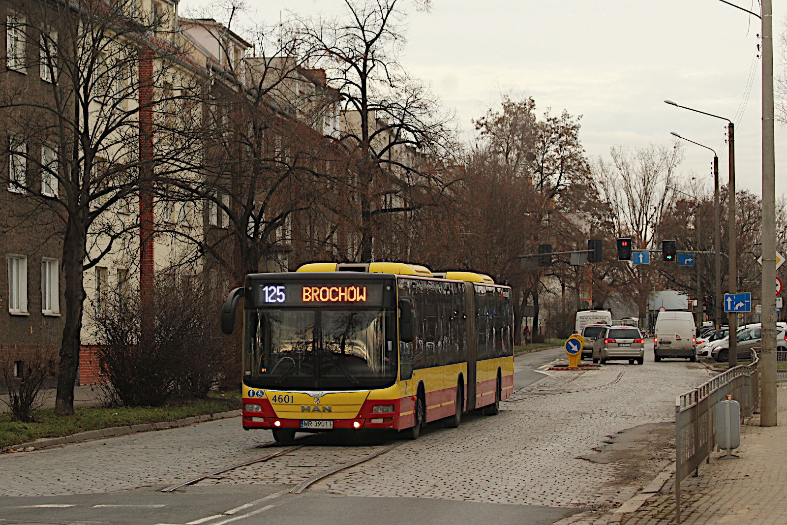
<path id="1" fill-rule="evenodd" d="M 755 0 L 733 0 L 759 12 Z M 205 0 L 183 0 L 198 6 Z M 340 13 L 341 0 L 247 0 L 258 20 L 280 13 Z M 754 6 L 752 6 L 752 4 Z M 774 2 L 775 71 L 783 70 L 778 35 L 785 9 Z M 719 0 L 433 0 L 430 13 L 409 12 L 402 62 L 456 109 L 472 136 L 471 119 L 513 89 L 547 107 L 582 115 L 589 157 L 612 145 L 670 145 L 670 131 L 719 152 L 727 179 L 726 123 L 663 103 L 665 98 L 736 125 L 737 186 L 760 192 L 759 19 Z M 747 84 L 753 80 L 747 94 Z M 787 192 L 784 132 L 776 130 L 776 188 Z M 722 153 L 722 148 L 724 148 Z M 685 143 L 682 171 L 711 183 L 712 153 Z"/>

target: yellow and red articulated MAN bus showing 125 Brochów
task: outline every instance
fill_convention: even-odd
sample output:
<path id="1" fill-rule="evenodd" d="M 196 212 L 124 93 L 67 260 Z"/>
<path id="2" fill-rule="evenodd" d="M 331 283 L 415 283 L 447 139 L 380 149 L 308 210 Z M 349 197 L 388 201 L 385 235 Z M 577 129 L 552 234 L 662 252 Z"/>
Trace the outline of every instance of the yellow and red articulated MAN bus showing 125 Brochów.
<path id="1" fill-rule="evenodd" d="M 243 427 L 298 432 L 393 429 L 417 438 L 463 412 L 497 414 L 513 390 L 511 288 L 473 272 L 405 263 L 312 263 L 246 276 Z"/>

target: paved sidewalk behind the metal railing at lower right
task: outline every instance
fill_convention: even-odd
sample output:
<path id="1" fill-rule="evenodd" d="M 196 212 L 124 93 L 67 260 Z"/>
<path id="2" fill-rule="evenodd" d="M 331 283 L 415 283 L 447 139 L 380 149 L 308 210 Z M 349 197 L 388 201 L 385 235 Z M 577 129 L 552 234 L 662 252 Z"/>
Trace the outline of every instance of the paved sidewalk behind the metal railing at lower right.
<path id="1" fill-rule="evenodd" d="M 699 477 L 681 483 L 682 523 L 782 525 L 787 523 L 787 384 L 778 386 L 778 427 L 759 427 L 759 415 L 741 427 L 739 458 L 700 466 Z M 674 523 L 674 478 L 621 525 Z"/>

